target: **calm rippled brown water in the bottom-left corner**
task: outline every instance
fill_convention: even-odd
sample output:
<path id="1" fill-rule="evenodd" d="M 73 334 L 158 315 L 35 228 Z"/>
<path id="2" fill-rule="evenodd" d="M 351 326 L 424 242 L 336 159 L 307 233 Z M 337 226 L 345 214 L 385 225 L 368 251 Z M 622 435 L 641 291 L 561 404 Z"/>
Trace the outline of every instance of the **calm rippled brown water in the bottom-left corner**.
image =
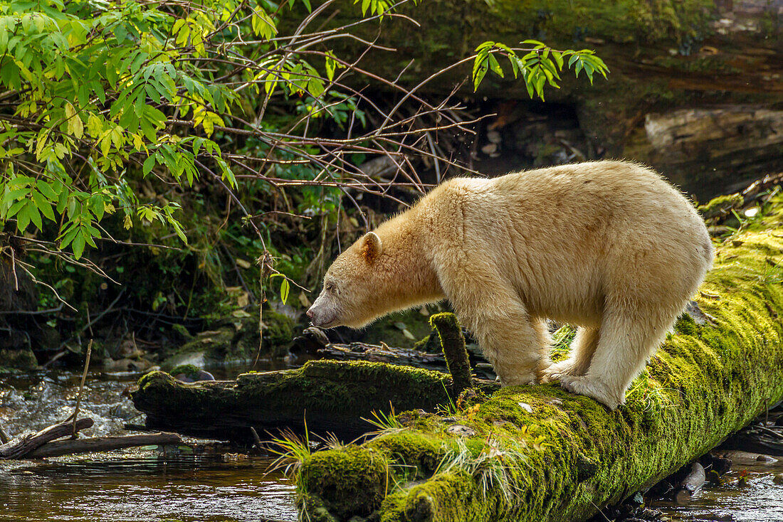
<path id="1" fill-rule="evenodd" d="M 269 459 L 115 453 L 0 464 L 0 520 L 296 520 L 294 487 Z"/>

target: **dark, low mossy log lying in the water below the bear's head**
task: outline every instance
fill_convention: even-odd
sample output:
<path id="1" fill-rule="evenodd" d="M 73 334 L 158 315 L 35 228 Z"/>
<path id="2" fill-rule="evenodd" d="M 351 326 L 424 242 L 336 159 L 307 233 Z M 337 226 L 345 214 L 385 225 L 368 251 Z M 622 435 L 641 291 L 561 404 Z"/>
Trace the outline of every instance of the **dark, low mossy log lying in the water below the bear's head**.
<path id="1" fill-rule="evenodd" d="M 493 384 L 486 383 L 492 388 Z M 365 434 L 373 412 L 434 410 L 456 399 L 446 373 L 379 362 L 311 361 L 301 369 L 244 373 L 236 380 L 183 383 L 148 373 L 132 392 L 146 427 L 252 443 L 258 433 L 285 428 L 343 440 Z M 363 419 L 364 418 L 364 419 Z"/>

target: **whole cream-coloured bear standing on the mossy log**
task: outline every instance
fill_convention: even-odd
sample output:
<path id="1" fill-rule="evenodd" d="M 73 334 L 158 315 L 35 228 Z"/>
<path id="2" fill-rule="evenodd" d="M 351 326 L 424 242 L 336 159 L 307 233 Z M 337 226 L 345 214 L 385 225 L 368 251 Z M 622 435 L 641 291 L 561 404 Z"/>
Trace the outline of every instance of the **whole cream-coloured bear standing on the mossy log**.
<path id="1" fill-rule="evenodd" d="M 615 408 L 712 260 L 691 203 L 637 164 L 455 178 L 337 257 L 308 315 L 357 328 L 446 297 L 503 385 L 559 379 Z M 579 327 L 568 360 L 550 363 L 545 319 Z"/>

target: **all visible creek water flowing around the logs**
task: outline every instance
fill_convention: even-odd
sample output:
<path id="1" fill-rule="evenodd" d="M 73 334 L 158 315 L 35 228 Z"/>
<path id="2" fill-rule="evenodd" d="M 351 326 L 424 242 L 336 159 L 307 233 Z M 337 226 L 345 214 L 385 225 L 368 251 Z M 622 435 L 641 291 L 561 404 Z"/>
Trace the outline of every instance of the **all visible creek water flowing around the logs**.
<path id="1" fill-rule="evenodd" d="M 239 371 L 214 373 L 233 378 Z M 95 426 L 85 434 L 123 434 L 124 423 L 143 423 L 127 396 L 138 377 L 89 375 L 80 416 L 91 417 Z M 0 375 L 0 425 L 13 436 L 67 418 L 79 379 L 73 373 Z M 296 520 L 294 484 L 280 473 L 265 473 L 271 462 L 222 452 L 193 455 L 182 448 L 0 461 L 0 522 Z M 747 473 L 745 486 L 734 480 L 740 473 Z M 705 485 L 685 506 L 655 507 L 672 520 L 781 522 L 783 486 L 774 484 L 774 473 L 783 473 L 783 459 L 735 460 L 726 485 Z"/>

